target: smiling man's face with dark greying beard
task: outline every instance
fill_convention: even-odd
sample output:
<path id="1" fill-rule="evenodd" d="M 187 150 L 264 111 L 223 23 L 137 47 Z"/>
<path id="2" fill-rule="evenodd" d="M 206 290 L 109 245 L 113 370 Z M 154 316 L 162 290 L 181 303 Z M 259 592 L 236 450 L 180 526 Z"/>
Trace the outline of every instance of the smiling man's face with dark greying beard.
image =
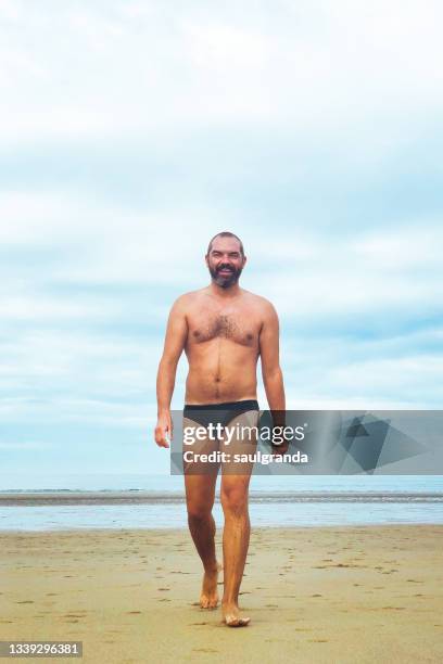
<path id="1" fill-rule="evenodd" d="M 235 238 L 216 238 L 206 256 L 206 265 L 213 281 L 228 289 L 238 282 L 246 259 Z"/>

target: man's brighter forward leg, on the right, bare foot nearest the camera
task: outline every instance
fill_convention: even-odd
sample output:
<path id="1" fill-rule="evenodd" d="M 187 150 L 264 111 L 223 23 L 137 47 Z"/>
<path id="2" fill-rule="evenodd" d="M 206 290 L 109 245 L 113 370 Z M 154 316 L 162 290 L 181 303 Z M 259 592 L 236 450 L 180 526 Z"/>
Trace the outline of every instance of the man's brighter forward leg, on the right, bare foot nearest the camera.
<path id="1" fill-rule="evenodd" d="M 243 426 L 256 426 L 257 411 L 237 416 L 229 427 L 237 423 Z M 228 451 L 233 459 L 235 454 L 253 455 L 256 451 L 256 437 L 251 440 L 237 436 L 230 445 L 220 448 Z M 253 462 L 221 463 L 220 501 L 225 514 L 225 528 L 223 533 L 224 556 L 224 596 L 221 610 L 224 621 L 230 627 L 248 625 L 251 618 L 241 616 L 239 610 L 239 591 L 243 577 L 250 542 L 251 524 L 248 510 L 249 485 Z"/>

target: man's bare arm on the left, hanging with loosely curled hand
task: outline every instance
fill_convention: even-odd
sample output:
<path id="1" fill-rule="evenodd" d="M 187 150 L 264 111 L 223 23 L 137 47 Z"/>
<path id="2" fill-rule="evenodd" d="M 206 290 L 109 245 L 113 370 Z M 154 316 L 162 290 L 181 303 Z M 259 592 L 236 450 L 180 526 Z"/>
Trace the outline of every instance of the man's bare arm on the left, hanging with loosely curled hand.
<path id="1" fill-rule="evenodd" d="M 179 297 L 170 309 L 166 328 L 165 345 L 159 365 L 156 381 L 157 423 L 155 426 L 155 443 L 160 447 L 169 447 L 166 434 L 169 438 L 173 435 L 170 399 L 174 392 L 178 360 L 185 348 L 188 335 L 185 301 L 186 296 Z"/>

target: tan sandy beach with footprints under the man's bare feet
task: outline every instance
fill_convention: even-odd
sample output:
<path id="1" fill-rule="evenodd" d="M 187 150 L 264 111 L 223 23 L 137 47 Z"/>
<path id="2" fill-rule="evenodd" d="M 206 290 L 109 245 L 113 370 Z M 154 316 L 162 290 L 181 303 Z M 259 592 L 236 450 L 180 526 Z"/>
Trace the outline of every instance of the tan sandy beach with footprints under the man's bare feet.
<path id="1" fill-rule="evenodd" d="M 84 662 L 443 661 L 441 525 L 253 528 L 241 629 L 195 603 L 187 531 L 3 533 L 0 551 L 0 639 L 81 640 Z"/>

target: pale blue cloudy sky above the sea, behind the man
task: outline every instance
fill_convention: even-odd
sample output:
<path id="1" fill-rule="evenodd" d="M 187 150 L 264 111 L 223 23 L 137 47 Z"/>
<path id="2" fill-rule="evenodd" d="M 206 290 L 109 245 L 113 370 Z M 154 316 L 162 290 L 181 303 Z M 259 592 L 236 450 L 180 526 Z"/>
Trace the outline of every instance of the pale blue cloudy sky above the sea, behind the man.
<path id="1" fill-rule="evenodd" d="M 221 230 L 278 310 L 288 408 L 441 408 L 442 21 L 432 0 L 0 1 L 3 476 L 168 473 L 165 322 Z"/>

